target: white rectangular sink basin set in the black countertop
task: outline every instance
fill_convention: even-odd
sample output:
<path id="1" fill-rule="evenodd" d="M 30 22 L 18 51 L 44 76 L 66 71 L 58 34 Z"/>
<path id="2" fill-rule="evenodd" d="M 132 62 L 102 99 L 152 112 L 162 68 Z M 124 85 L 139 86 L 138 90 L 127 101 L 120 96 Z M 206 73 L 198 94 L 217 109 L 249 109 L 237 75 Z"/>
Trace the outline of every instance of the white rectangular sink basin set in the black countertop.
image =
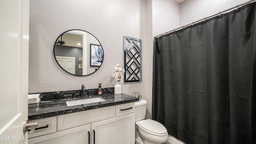
<path id="1" fill-rule="evenodd" d="M 66 104 L 67 106 L 76 106 L 80 104 L 90 104 L 94 102 L 104 102 L 104 101 L 106 101 L 104 98 L 86 98 L 82 100 L 67 101 Z"/>

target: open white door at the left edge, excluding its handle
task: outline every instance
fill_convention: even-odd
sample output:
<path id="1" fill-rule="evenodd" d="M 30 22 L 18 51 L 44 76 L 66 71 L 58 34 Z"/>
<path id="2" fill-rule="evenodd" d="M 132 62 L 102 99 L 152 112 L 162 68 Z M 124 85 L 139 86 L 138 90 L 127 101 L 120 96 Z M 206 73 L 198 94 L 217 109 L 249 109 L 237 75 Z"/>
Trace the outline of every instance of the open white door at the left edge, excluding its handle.
<path id="1" fill-rule="evenodd" d="M 0 144 L 26 144 L 29 0 L 1 0 L 0 19 Z"/>

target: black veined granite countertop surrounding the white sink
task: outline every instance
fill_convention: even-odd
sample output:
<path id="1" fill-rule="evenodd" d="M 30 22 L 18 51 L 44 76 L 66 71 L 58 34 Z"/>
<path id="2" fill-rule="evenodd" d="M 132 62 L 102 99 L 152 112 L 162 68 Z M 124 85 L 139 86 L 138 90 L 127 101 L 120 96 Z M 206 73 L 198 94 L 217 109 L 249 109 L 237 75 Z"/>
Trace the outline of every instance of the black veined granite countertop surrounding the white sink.
<path id="1" fill-rule="evenodd" d="M 98 95 L 92 96 L 99 97 Z M 106 106 L 114 106 L 118 104 L 125 104 L 129 102 L 135 102 L 138 98 L 127 94 L 102 94 L 100 97 L 104 98 L 104 102 L 96 102 L 91 104 L 82 104 L 77 106 L 67 106 L 66 101 L 79 100 L 83 98 L 58 98 L 51 100 L 41 100 L 37 108 L 28 108 L 28 120 L 36 120 L 40 118 L 46 118 L 50 116 L 58 116 L 61 114 L 69 114 L 73 112 L 81 112 L 84 110 L 91 110 L 95 108 L 103 108 Z"/>

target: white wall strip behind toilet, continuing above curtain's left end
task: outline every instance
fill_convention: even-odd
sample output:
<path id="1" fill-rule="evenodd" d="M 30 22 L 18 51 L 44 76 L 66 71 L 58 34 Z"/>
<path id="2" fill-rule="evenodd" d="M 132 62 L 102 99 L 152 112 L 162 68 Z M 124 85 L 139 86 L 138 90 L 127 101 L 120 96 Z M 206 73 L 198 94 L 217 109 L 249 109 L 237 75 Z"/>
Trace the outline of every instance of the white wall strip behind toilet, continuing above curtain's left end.
<path id="1" fill-rule="evenodd" d="M 147 101 L 146 118 L 152 118 L 152 81 L 153 81 L 153 39 L 154 36 L 162 34 L 179 26 L 179 4 L 173 0 L 146 0 L 145 9 L 146 28 L 146 66 L 145 99 Z"/>

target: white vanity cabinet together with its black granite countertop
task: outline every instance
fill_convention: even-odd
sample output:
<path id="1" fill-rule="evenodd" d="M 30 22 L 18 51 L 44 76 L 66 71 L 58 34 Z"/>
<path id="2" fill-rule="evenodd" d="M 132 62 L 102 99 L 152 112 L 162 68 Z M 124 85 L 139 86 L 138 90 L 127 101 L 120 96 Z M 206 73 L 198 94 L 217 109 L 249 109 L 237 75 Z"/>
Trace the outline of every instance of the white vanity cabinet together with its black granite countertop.
<path id="1" fill-rule="evenodd" d="M 67 106 L 73 98 L 42 100 L 28 114 L 29 123 L 38 122 L 28 144 L 134 144 L 138 98 L 113 93 L 93 97 L 105 101 Z"/>

